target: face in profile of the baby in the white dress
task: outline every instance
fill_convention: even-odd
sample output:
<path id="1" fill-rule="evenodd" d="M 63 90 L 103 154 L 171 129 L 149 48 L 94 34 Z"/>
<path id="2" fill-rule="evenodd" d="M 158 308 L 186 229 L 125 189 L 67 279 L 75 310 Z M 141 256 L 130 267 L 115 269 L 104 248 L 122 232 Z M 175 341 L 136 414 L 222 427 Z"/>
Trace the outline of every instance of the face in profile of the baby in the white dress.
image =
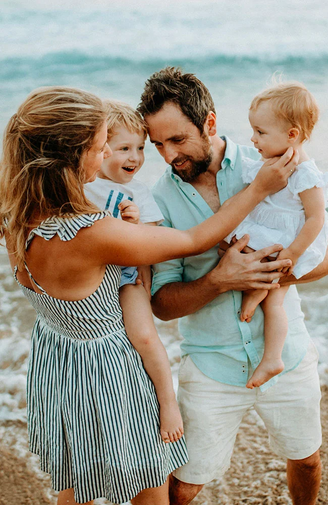
<path id="1" fill-rule="evenodd" d="M 277 118 L 269 100 L 262 102 L 255 111 L 249 112 L 249 122 L 253 128 L 251 141 L 262 158 L 274 158 L 286 153 L 289 142 L 290 125 Z"/>

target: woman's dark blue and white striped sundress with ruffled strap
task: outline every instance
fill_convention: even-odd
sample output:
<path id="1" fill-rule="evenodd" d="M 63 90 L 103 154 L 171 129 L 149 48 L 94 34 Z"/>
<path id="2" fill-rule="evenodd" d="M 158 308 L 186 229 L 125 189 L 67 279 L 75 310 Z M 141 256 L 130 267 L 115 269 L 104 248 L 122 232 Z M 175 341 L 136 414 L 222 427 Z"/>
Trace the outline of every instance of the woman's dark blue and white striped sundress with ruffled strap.
<path id="1" fill-rule="evenodd" d="M 35 235 L 70 240 L 105 216 L 48 218 L 26 247 Z M 42 288 L 38 294 L 16 278 L 37 312 L 27 384 L 30 450 L 53 488 L 73 487 L 80 503 L 128 501 L 188 461 L 183 438 L 161 440 L 155 390 L 123 326 L 120 276 L 119 266 L 107 265 L 100 286 L 79 301 Z"/>

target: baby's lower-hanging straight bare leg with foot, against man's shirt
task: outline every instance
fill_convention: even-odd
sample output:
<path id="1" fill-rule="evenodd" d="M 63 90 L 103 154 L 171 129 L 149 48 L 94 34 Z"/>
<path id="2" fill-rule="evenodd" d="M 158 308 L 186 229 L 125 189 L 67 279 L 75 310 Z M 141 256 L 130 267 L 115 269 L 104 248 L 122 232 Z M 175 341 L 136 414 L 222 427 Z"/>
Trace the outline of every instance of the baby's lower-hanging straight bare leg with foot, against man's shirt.
<path id="1" fill-rule="evenodd" d="M 288 286 L 269 291 L 262 301 L 261 307 L 264 313 L 264 354 L 263 358 L 254 370 L 253 375 L 246 387 L 253 389 L 278 375 L 284 370 L 284 362 L 281 358 L 287 331 L 288 320 L 283 307 L 284 298 Z"/>

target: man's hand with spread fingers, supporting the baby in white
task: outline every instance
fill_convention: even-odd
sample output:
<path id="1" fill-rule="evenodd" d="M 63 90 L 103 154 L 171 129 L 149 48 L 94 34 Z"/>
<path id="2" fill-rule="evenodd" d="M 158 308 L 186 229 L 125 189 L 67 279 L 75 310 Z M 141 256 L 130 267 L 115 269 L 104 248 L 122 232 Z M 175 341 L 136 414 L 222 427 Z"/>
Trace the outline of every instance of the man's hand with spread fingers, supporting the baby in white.
<path id="1" fill-rule="evenodd" d="M 274 270 L 286 267 L 290 268 L 292 265 L 291 260 L 288 258 L 261 263 L 261 260 L 264 258 L 272 255 L 274 252 L 281 251 L 283 246 L 280 244 L 244 254 L 248 240 L 249 236 L 244 235 L 231 247 L 227 244 L 225 253 L 224 244 L 220 244 L 218 254 L 222 257 L 224 253 L 224 256 L 218 265 L 207 274 L 208 280 L 217 286 L 219 294 L 231 289 L 236 291 L 244 291 L 245 289 L 277 289 L 279 284 L 271 284 L 271 282 L 279 279 L 283 273 L 275 272 Z"/>

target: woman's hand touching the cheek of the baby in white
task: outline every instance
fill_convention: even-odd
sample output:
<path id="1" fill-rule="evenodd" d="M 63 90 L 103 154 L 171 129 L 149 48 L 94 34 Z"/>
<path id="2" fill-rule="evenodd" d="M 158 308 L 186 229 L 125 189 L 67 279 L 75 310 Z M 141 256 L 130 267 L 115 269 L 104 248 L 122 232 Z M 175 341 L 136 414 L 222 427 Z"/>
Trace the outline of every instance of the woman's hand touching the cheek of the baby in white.
<path id="1" fill-rule="evenodd" d="M 276 193 L 276 191 L 283 189 L 288 182 L 288 177 L 294 172 L 299 157 L 298 151 L 294 151 L 292 147 L 289 147 L 280 158 L 267 160 L 251 185 L 256 184 L 257 190 L 264 195 L 263 198 L 270 193 Z"/>

